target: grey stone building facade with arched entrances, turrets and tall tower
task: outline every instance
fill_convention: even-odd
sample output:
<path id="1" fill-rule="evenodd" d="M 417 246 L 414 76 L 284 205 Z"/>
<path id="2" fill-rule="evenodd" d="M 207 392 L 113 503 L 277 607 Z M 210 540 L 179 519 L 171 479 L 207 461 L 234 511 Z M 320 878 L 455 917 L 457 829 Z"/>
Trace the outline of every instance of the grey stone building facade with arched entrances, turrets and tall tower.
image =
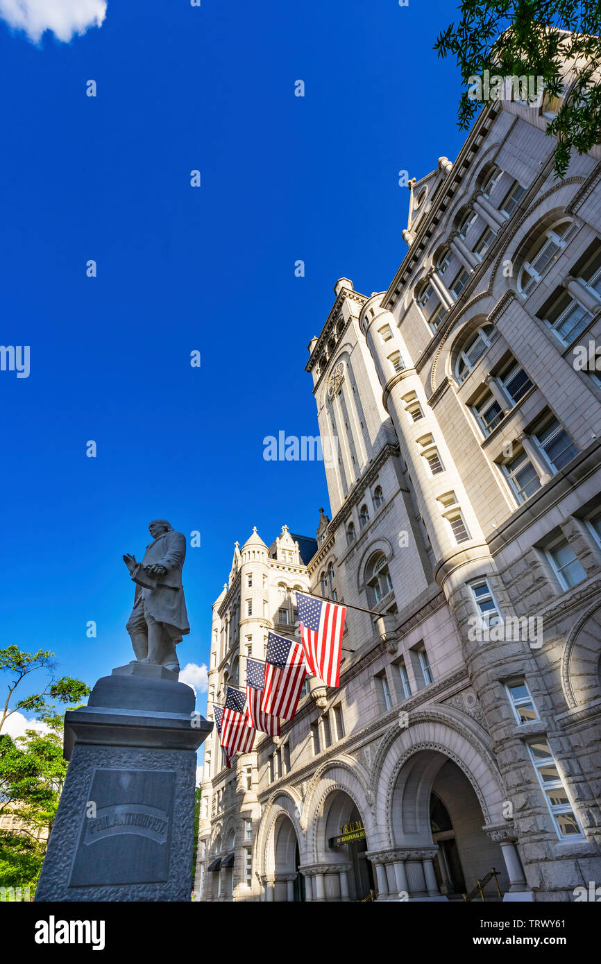
<path id="1" fill-rule="evenodd" d="M 207 741 L 201 899 L 461 899 L 494 869 L 505 900 L 568 901 L 601 879 L 601 152 L 554 179 L 548 115 L 488 105 L 410 183 L 388 290 L 335 286 L 307 364 L 332 519 L 316 545 L 236 546 L 209 704 L 295 632 L 296 588 L 386 632 L 349 609 L 340 688 L 312 681 L 232 770 Z"/>

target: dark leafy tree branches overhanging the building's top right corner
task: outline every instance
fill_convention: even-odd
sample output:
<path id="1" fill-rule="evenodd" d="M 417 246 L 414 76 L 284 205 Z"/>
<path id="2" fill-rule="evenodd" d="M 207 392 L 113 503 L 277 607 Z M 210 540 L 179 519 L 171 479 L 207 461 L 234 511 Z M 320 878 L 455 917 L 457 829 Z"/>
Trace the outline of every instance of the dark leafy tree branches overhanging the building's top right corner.
<path id="1" fill-rule="evenodd" d="M 562 97 L 547 124 L 558 138 L 554 170 L 564 177 L 572 150 L 584 154 L 601 129 L 601 3 L 599 0 L 462 0 L 461 18 L 436 40 L 454 55 L 464 84 L 491 75 L 542 77 L 548 97 Z M 572 67 L 566 73 L 565 61 Z M 574 62 L 578 62 L 574 68 Z M 463 91 L 458 125 L 466 129 L 482 101 Z"/>

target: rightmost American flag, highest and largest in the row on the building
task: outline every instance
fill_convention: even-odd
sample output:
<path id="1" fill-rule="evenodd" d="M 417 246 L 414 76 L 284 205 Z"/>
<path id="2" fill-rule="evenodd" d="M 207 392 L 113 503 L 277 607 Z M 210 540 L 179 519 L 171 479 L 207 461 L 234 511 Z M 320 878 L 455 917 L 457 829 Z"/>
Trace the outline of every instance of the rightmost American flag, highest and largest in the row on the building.
<path id="1" fill-rule="evenodd" d="M 346 606 L 296 593 L 298 624 L 311 673 L 326 686 L 341 682 L 341 647 Z"/>

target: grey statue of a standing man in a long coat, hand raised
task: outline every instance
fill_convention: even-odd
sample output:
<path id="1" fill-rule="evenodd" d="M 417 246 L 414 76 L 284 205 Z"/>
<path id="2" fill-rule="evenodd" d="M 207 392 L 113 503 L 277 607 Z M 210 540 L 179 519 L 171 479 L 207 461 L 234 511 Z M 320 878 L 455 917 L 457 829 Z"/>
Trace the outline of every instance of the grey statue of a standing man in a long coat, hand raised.
<path id="1" fill-rule="evenodd" d="M 149 531 L 153 542 L 142 562 L 135 555 L 123 555 L 136 583 L 126 629 L 138 662 L 158 663 L 178 673 L 176 646 L 190 631 L 181 585 L 186 540 L 166 519 L 152 520 Z"/>

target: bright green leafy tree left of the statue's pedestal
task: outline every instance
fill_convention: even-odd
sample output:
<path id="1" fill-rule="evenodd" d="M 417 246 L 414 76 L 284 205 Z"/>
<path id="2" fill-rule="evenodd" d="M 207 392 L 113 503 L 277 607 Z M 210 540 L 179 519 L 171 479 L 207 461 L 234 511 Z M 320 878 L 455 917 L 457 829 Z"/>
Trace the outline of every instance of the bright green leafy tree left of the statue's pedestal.
<path id="1" fill-rule="evenodd" d="M 0 713 L 0 729 L 16 710 L 35 713 L 45 727 L 43 732 L 30 729 L 16 738 L 0 733 L 0 815 L 10 813 L 23 821 L 18 829 L 0 829 L 0 887 L 35 885 L 45 852 L 40 831 L 50 833 L 65 782 L 63 715 L 46 698 L 72 706 L 90 692 L 80 680 L 55 680 L 53 656 L 43 650 L 22 653 L 16 646 L 0 650 L 0 669 L 12 677 Z M 49 682 L 41 692 L 19 700 L 10 709 L 16 687 L 37 669 L 49 674 Z"/>

